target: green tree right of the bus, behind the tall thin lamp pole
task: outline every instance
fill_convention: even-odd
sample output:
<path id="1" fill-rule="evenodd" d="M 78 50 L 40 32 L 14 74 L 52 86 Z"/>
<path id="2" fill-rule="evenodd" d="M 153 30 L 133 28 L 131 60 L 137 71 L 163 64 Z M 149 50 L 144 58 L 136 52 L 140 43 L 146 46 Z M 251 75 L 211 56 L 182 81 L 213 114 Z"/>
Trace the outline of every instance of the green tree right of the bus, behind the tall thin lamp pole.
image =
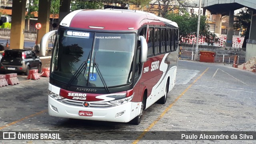
<path id="1" fill-rule="evenodd" d="M 166 18 L 176 22 L 179 26 L 179 40 L 181 41 L 182 37 L 189 39 L 191 35 L 196 34 L 197 31 L 197 22 L 198 16 L 192 15 L 190 16 L 189 13 L 184 13 L 183 15 L 180 14 L 167 14 Z M 204 37 L 205 42 L 208 44 L 214 44 L 219 42 L 216 34 L 212 34 L 210 31 L 210 26 L 207 24 L 206 16 L 200 17 L 200 32 L 199 37 Z"/>

